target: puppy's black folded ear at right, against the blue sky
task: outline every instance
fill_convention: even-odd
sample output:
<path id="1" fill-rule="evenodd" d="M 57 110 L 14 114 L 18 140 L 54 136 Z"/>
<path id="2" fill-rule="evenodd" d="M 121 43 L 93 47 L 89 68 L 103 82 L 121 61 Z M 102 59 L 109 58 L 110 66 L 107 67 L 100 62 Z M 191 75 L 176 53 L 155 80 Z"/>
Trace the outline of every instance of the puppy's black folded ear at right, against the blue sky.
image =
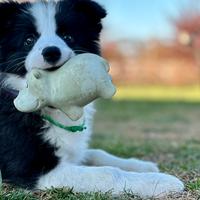
<path id="1" fill-rule="evenodd" d="M 95 23 L 100 22 L 107 15 L 102 6 L 91 0 L 77 0 L 75 10 L 84 13 Z"/>

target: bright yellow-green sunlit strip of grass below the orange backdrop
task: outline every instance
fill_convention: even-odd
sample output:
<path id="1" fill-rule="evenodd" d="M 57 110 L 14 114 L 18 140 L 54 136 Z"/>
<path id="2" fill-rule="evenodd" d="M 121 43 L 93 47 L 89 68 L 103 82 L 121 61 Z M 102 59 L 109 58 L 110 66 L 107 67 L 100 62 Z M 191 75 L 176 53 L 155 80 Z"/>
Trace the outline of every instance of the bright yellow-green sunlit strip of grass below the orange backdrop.
<path id="1" fill-rule="evenodd" d="M 200 85 L 119 86 L 115 99 L 200 102 Z"/>

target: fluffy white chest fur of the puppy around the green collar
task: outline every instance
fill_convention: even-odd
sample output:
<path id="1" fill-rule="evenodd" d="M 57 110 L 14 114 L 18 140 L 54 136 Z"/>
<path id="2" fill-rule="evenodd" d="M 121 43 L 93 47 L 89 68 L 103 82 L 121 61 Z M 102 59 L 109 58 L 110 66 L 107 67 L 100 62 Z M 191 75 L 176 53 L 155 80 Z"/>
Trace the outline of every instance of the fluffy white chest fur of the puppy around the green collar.
<path id="1" fill-rule="evenodd" d="M 77 122 L 71 122 L 60 111 L 50 113 L 51 117 L 66 126 L 77 126 L 83 123 L 85 119 Z M 87 149 L 90 138 L 90 127 L 85 122 L 87 129 L 82 132 L 69 132 L 55 125 L 48 124 L 49 130 L 44 133 L 43 138 L 52 146 L 56 147 L 55 155 L 61 159 L 61 162 L 79 164 L 84 159 L 84 152 Z"/>

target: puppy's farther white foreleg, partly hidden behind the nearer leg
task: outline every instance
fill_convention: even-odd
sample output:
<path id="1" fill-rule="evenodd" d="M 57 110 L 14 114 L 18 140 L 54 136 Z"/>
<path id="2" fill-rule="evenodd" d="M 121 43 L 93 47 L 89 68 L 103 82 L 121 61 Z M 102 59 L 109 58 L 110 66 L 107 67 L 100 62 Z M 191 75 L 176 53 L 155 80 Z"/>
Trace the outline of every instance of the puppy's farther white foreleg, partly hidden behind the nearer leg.
<path id="1" fill-rule="evenodd" d="M 159 171 L 155 163 L 137 160 L 134 158 L 123 159 L 98 149 L 89 149 L 86 151 L 86 164 L 92 166 L 113 166 L 125 171 L 135 172 Z"/>

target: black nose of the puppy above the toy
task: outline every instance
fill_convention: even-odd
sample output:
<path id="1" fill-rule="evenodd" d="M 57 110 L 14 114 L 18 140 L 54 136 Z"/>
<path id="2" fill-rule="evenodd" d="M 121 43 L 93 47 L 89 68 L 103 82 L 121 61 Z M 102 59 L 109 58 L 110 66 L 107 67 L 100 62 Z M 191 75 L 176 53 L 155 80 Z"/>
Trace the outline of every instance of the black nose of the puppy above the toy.
<path id="1" fill-rule="evenodd" d="M 58 47 L 55 46 L 46 47 L 43 49 L 42 55 L 47 63 L 55 64 L 61 58 L 61 51 Z"/>

